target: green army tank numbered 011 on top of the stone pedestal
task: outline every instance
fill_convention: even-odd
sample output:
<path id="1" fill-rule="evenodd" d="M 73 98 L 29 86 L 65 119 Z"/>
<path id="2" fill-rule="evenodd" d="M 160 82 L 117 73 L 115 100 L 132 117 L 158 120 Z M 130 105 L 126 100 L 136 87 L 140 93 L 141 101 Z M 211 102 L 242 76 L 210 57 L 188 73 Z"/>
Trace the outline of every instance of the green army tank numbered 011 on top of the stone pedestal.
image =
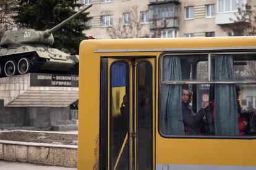
<path id="1" fill-rule="evenodd" d="M 92 4 L 50 30 L 6 31 L 0 42 L 0 76 L 30 72 L 78 74 L 79 55 L 69 55 L 49 47 L 54 41 L 51 33 L 90 7 Z"/>

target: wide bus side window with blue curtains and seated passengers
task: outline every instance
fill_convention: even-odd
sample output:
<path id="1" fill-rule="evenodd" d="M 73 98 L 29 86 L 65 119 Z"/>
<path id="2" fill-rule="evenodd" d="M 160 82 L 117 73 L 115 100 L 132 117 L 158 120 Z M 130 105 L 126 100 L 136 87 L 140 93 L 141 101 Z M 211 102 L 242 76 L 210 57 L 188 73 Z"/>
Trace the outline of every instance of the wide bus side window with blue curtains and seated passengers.
<path id="1" fill-rule="evenodd" d="M 163 55 L 161 134 L 249 135 L 243 112 L 256 113 L 255 60 L 255 54 L 248 53 Z"/>

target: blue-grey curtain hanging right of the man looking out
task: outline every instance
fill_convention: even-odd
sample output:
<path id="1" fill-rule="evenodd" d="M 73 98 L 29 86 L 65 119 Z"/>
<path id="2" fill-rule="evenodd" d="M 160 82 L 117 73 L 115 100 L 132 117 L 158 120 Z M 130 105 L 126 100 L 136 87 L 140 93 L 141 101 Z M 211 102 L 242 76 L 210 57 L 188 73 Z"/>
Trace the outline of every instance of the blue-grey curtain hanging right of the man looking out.
<path id="1" fill-rule="evenodd" d="M 232 55 L 218 55 L 215 59 L 215 81 L 233 81 Z M 238 113 L 235 84 L 215 85 L 215 135 L 238 136 Z"/>

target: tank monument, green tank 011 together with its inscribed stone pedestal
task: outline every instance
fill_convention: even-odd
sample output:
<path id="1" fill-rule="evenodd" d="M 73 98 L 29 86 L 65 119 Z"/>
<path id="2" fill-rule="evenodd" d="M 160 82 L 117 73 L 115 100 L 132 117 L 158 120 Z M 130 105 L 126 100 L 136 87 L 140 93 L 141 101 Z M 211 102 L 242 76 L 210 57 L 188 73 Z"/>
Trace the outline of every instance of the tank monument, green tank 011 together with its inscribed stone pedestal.
<path id="1" fill-rule="evenodd" d="M 79 55 L 51 48 L 53 32 L 92 5 L 50 30 L 6 31 L 0 42 L 0 128 L 77 130 Z"/>

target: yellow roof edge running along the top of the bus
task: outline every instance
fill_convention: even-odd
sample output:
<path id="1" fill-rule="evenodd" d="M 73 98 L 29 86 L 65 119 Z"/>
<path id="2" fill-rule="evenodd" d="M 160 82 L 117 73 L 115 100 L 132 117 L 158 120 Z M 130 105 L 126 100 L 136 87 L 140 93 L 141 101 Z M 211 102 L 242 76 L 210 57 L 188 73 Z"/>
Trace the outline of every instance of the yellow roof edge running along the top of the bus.
<path id="1" fill-rule="evenodd" d="M 184 51 L 206 49 L 256 49 L 256 36 L 202 38 L 89 39 L 82 49 L 94 52 Z"/>

